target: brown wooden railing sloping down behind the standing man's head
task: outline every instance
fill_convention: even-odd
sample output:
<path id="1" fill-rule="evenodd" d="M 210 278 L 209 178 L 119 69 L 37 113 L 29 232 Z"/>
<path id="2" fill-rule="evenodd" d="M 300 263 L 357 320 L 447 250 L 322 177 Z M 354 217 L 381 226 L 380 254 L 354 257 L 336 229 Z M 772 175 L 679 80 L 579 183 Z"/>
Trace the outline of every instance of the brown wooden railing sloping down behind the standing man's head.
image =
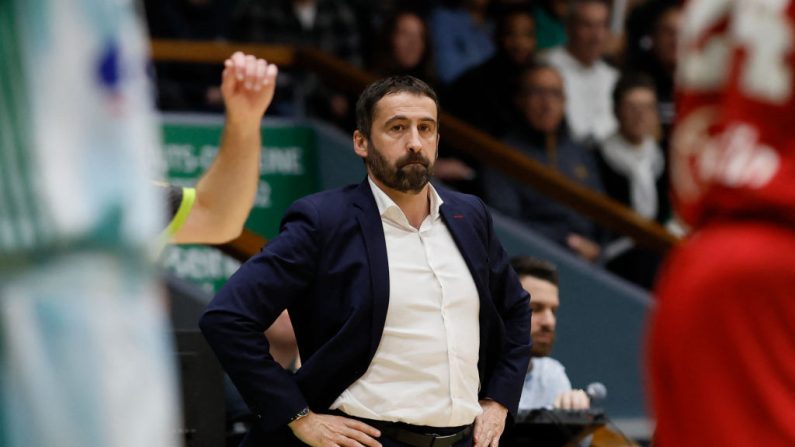
<path id="1" fill-rule="evenodd" d="M 329 85 L 354 95 L 359 94 L 368 83 L 376 79 L 376 76 L 370 73 L 311 48 L 152 41 L 152 55 L 158 61 L 220 63 L 235 51 L 244 51 L 262 57 L 284 68 L 296 67 L 315 72 Z M 492 166 L 514 177 L 606 228 L 629 236 L 638 244 L 660 252 L 667 251 L 678 242 L 675 236 L 656 222 L 644 219 L 619 202 L 569 180 L 554 169 L 525 156 L 452 115 L 442 112 L 439 122 L 443 138 L 451 147 L 470 155 L 484 165 Z M 244 243 L 243 240 L 239 241 L 240 244 Z M 261 246 L 256 246 L 251 254 Z"/>

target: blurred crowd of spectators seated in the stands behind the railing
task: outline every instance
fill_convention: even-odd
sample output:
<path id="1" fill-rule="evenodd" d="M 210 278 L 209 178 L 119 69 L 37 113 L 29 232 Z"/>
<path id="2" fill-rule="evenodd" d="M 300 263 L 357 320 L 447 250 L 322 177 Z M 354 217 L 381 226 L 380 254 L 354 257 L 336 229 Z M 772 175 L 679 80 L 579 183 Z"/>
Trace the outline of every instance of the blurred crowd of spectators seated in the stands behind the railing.
<path id="1" fill-rule="evenodd" d="M 147 0 L 153 38 L 313 47 L 433 85 L 442 109 L 641 216 L 670 225 L 674 0 Z M 217 69 L 158 63 L 159 106 L 220 111 Z M 270 112 L 269 112 L 270 113 Z M 353 98 L 285 70 L 274 115 L 352 131 Z M 442 123 L 441 134 L 444 135 Z M 444 142 L 444 138 L 442 138 Z M 442 146 L 436 176 L 644 287 L 657 254 Z"/>

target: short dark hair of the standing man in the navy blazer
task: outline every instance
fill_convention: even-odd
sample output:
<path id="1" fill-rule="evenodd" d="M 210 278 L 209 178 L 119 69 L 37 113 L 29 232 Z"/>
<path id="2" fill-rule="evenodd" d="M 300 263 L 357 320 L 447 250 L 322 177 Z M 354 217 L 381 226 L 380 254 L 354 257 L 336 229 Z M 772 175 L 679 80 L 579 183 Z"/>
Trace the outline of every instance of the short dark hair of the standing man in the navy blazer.
<path id="1" fill-rule="evenodd" d="M 439 112 L 439 97 L 431 86 L 414 76 L 390 76 L 368 85 L 359 95 L 356 101 L 356 128 L 359 132 L 369 138 L 373 126 L 373 113 L 378 101 L 386 95 L 404 92 L 431 98 L 436 104 L 436 112 Z"/>

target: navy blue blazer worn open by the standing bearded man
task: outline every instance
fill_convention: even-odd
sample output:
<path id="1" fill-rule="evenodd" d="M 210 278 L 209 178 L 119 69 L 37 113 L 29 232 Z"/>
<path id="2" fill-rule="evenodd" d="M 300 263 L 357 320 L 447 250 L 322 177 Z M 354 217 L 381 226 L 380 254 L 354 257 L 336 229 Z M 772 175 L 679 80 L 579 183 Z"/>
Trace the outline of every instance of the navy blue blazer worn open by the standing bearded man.
<path id="1" fill-rule="evenodd" d="M 515 414 L 530 361 L 529 296 L 483 202 L 437 191 L 480 297 L 480 396 Z M 367 180 L 296 201 L 280 234 L 229 279 L 199 323 L 259 419 L 249 438 L 269 439 L 306 406 L 327 411 L 367 370 L 388 305 L 386 242 Z M 295 374 L 273 360 L 263 335 L 284 309 L 301 353 Z"/>

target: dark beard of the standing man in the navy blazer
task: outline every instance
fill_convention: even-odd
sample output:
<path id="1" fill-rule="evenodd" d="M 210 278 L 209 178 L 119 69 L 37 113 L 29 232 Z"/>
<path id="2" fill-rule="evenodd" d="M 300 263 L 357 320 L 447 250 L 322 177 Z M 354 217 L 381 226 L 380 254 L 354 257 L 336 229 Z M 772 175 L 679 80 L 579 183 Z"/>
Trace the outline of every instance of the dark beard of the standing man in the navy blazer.
<path id="1" fill-rule="evenodd" d="M 365 163 L 373 177 L 385 186 L 400 192 L 418 193 L 431 180 L 433 165 L 421 153 L 409 152 L 393 167 L 370 139 L 367 140 L 367 145 L 369 151 Z"/>

